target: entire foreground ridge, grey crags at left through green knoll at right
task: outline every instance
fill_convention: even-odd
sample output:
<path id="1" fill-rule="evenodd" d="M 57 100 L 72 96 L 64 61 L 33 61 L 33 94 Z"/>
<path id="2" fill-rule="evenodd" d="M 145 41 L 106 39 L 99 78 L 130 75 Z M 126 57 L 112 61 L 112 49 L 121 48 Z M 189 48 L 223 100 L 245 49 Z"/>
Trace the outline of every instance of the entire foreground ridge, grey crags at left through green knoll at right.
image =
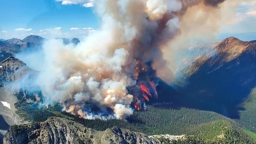
<path id="1" fill-rule="evenodd" d="M 209 133 L 202 133 L 205 129 Z M 180 135 L 153 135 L 147 136 L 140 132 L 112 127 L 105 131 L 97 131 L 84 127 L 74 121 L 60 117 L 50 117 L 44 122 L 32 122 L 22 125 L 12 125 L 4 136 L 4 144 L 217 144 L 217 143 L 246 143 L 253 141 L 237 131 L 226 121 L 214 121 L 198 127 L 202 138 Z"/>

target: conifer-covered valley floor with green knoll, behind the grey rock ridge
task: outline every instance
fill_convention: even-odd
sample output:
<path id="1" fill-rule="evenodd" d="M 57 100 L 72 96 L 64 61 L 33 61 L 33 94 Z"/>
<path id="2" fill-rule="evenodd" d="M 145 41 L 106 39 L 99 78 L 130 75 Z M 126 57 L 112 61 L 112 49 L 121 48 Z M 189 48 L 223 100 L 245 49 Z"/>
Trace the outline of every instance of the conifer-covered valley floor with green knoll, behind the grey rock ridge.
<path id="1" fill-rule="evenodd" d="M 148 106 L 146 111 L 136 111 L 127 121 L 111 120 L 88 120 L 78 118 L 66 112 L 53 111 L 55 107 L 46 110 L 18 111 L 23 117 L 31 121 L 45 121 L 48 117 L 59 116 L 73 120 L 85 127 L 98 131 L 104 131 L 113 126 L 129 129 L 134 132 L 142 132 L 146 135 L 170 134 L 170 135 L 194 135 L 196 139 L 206 143 L 211 142 L 217 136 L 224 135 L 229 139 L 253 141 L 253 137 L 246 134 L 236 121 L 215 112 L 189 109 L 189 108 L 164 108 Z M 188 137 L 190 140 L 192 137 Z M 241 139 L 241 140 L 240 140 Z M 256 140 L 256 139 L 254 139 Z M 177 141 L 181 142 L 181 141 Z M 243 142 L 242 142 L 243 143 Z"/>

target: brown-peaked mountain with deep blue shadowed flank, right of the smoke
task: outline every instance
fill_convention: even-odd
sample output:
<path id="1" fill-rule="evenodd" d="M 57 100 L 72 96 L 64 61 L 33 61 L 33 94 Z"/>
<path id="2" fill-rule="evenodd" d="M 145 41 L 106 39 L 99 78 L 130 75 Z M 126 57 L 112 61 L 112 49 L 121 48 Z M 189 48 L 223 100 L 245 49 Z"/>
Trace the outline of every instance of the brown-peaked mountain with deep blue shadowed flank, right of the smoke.
<path id="1" fill-rule="evenodd" d="M 189 95 L 183 106 L 220 113 L 256 132 L 256 107 L 250 102 L 255 101 L 256 41 L 228 37 L 214 44 L 194 45 L 191 52 L 199 54 L 183 61 L 183 75 L 176 80 L 179 91 Z"/>

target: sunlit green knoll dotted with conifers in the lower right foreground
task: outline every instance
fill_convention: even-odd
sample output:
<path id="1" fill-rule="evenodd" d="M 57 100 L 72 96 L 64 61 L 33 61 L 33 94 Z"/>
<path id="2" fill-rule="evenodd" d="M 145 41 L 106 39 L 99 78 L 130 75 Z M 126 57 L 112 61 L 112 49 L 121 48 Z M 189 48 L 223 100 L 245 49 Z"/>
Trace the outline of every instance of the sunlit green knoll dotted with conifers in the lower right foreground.
<path id="1" fill-rule="evenodd" d="M 246 143 L 254 144 L 248 135 L 236 129 L 225 120 L 216 120 L 210 123 L 199 125 L 194 135 L 186 135 L 185 139 L 172 140 L 172 144 L 226 144 Z M 163 144 L 170 144 L 171 141 L 160 137 L 158 140 Z"/>

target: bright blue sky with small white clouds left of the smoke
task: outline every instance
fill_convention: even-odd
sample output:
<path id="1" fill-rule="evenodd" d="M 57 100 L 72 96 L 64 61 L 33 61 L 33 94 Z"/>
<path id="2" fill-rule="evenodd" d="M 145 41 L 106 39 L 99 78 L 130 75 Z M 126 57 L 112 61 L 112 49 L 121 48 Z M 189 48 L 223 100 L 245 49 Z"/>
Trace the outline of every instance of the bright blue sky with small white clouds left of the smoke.
<path id="1" fill-rule="evenodd" d="M 63 5 L 55 0 L 2 1 L 0 13 L 0 38 L 4 39 L 23 39 L 32 33 L 44 37 L 50 34 L 76 37 L 86 34 L 92 28 L 99 28 L 92 7 Z"/>

